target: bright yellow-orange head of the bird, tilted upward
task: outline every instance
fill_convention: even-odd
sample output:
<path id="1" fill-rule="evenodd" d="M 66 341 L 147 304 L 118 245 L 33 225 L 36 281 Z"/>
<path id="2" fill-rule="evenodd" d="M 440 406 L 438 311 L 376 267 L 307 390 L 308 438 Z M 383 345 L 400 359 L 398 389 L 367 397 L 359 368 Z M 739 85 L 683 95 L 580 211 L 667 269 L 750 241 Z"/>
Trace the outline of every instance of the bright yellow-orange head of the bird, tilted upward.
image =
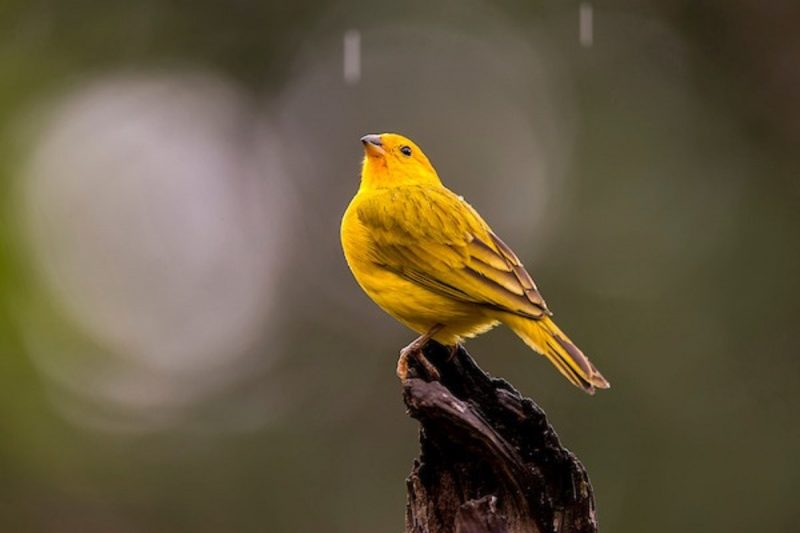
<path id="1" fill-rule="evenodd" d="M 411 139 L 396 133 L 381 133 L 364 135 L 361 143 L 364 145 L 362 187 L 441 185 L 433 165 Z"/>

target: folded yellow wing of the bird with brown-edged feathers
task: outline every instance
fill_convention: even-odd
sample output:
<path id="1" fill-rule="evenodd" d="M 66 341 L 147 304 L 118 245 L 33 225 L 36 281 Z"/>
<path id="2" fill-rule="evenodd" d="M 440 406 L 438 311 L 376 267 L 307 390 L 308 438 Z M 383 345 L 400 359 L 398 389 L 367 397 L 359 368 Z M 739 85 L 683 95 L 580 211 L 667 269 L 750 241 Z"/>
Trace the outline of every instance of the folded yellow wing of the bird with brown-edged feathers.
<path id="1" fill-rule="evenodd" d="M 447 189 L 404 187 L 361 202 L 371 259 L 432 291 L 532 318 L 550 314 L 519 258 Z"/>

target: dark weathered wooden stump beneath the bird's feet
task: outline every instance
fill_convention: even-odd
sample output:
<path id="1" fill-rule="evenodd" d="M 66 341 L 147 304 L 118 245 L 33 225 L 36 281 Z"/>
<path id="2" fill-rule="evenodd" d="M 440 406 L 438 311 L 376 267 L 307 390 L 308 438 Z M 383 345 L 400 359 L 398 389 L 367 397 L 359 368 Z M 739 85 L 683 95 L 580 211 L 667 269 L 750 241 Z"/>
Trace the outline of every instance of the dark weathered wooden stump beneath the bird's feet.
<path id="1" fill-rule="evenodd" d="M 420 457 L 407 480 L 406 531 L 413 533 L 590 533 L 594 497 L 583 465 L 559 442 L 544 411 L 462 348 L 425 347 L 440 381 L 404 387 L 419 420 Z"/>

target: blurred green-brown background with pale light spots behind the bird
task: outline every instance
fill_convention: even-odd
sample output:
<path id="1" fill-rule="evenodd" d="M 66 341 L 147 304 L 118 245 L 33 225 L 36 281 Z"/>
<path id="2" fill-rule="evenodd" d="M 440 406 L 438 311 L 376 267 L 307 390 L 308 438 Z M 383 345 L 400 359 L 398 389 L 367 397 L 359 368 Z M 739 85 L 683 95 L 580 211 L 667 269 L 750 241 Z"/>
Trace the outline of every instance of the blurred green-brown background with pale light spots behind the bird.
<path id="1" fill-rule="evenodd" d="M 401 530 L 412 334 L 338 241 L 381 131 L 613 383 L 470 344 L 603 530 L 796 531 L 800 9 L 591 7 L 5 0 L 0 531 Z"/>

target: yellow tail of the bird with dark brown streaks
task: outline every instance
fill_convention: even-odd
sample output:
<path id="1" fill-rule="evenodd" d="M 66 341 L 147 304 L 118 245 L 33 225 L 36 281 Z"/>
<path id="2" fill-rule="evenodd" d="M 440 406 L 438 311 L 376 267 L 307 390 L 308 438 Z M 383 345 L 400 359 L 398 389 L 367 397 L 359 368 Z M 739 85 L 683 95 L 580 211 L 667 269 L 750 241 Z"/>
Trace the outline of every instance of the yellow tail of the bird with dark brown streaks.
<path id="1" fill-rule="evenodd" d="M 611 386 L 549 316 L 531 319 L 503 313 L 500 320 L 525 344 L 547 357 L 576 387 L 594 394 L 595 388 L 607 389 Z"/>

